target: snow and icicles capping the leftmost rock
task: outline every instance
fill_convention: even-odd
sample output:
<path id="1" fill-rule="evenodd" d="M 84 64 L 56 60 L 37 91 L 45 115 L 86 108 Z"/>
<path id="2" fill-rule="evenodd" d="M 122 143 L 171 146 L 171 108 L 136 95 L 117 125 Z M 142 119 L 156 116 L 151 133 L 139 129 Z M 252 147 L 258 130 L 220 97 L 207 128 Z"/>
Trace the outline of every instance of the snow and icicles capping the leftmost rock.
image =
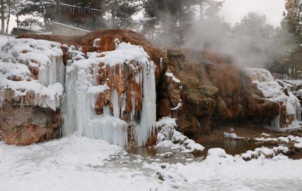
<path id="1" fill-rule="evenodd" d="M 0 107 L 5 99 L 14 99 L 21 105 L 59 108 L 64 90 L 62 55 L 59 43 L 46 40 L 15 39 L 2 45 Z M 13 92 L 12 97 L 8 91 Z"/>

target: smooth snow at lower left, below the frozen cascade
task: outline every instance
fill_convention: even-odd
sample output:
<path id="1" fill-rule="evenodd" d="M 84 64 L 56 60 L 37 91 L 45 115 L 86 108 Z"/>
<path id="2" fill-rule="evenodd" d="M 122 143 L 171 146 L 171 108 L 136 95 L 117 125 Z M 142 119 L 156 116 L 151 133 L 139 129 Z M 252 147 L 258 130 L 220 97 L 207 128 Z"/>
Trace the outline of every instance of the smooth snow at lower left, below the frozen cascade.
<path id="1" fill-rule="evenodd" d="M 167 190 L 155 177 L 127 166 L 108 164 L 122 155 L 103 140 L 69 135 L 26 147 L 0 142 L 1 191 Z M 123 156 L 121 156 L 123 157 Z"/>

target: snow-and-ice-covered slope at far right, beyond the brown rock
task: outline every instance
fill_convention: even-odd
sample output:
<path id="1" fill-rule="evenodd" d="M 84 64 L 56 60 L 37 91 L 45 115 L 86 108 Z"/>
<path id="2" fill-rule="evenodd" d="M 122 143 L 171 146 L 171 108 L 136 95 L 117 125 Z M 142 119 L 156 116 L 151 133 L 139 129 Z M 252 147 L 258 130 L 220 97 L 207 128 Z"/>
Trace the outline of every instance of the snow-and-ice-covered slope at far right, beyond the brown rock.
<path id="1" fill-rule="evenodd" d="M 284 87 L 275 81 L 272 74 L 262 68 L 246 68 L 246 71 L 251 76 L 253 83 L 256 83 L 265 98 L 278 102 L 281 107 L 286 107 L 287 116 L 293 116 L 292 124 L 288 125 L 288 129 L 297 128 L 296 124 L 301 121 L 301 104 L 299 99 L 292 93 L 286 95 Z M 279 112 L 280 113 L 280 112 Z M 285 127 L 280 127 L 280 115 L 270 119 L 271 128 L 273 130 L 283 130 Z"/>

